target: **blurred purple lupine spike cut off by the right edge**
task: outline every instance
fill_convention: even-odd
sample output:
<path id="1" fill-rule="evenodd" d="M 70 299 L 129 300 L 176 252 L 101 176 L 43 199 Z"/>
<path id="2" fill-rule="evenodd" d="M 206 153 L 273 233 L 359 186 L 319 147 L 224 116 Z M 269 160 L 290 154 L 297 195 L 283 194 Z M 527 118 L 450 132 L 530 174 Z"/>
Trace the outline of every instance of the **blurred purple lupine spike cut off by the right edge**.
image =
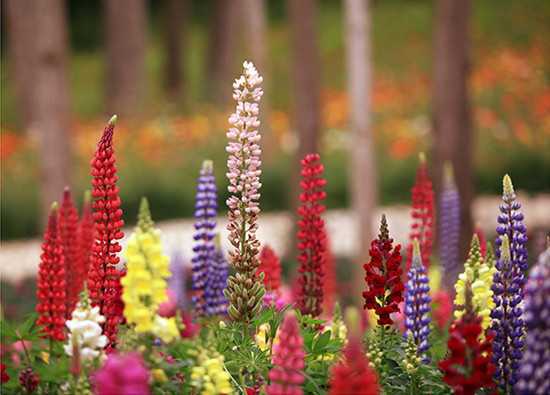
<path id="1" fill-rule="evenodd" d="M 550 243 L 531 269 L 524 294 L 527 335 L 515 390 L 550 394 Z"/>

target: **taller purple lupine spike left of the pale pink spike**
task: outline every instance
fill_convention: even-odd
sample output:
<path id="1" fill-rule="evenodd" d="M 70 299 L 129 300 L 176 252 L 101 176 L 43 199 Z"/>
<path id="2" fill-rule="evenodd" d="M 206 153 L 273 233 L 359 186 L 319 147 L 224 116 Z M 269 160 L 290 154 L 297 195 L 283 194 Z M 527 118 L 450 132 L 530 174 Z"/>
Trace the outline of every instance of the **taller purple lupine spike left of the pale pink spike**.
<path id="1" fill-rule="evenodd" d="M 214 229 L 216 227 L 217 203 L 216 180 L 214 178 L 212 161 L 202 164 L 195 196 L 195 234 L 193 239 L 192 285 L 193 305 L 197 317 L 206 315 L 204 291 L 207 272 L 214 260 Z"/>

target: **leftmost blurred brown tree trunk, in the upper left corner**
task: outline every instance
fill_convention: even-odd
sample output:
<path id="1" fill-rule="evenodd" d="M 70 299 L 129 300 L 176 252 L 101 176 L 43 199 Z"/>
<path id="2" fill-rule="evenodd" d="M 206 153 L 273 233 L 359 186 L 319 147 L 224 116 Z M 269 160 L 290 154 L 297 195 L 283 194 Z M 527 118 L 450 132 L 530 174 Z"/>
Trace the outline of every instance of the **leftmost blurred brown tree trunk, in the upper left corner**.
<path id="1" fill-rule="evenodd" d="M 32 120 L 33 67 L 36 58 L 34 4 L 34 0 L 7 0 L 5 4 L 10 78 L 24 129 L 30 126 Z"/>

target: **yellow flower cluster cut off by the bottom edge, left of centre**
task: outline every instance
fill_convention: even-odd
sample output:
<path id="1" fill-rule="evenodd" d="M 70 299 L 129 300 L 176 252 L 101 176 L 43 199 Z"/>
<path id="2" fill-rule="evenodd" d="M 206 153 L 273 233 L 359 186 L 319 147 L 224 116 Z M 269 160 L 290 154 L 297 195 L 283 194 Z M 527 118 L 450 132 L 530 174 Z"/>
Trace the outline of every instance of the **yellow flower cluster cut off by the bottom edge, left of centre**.
<path id="1" fill-rule="evenodd" d="M 216 395 L 233 393 L 229 373 L 224 369 L 223 355 L 208 353 L 206 350 L 203 350 L 199 354 L 197 362 L 198 365 L 194 366 L 191 370 L 191 385 L 198 394 Z"/>

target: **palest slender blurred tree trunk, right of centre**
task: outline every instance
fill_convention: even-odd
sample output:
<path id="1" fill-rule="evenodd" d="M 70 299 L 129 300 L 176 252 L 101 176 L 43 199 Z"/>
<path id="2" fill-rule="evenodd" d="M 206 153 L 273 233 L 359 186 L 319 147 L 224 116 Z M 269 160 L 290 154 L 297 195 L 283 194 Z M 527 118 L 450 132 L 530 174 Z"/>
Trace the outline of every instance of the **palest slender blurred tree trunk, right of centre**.
<path id="1" fill-rule="evenodd" d="M 351 140 L 350 190 L 359 231 L 358 262 L 352 265 L 354 295 L 363 288 L 361 263 L 368 260 L 372 216 L 377 202 L 374 139 L 371 131 L 372 52 L 369 0 L 345 1 Z"/>

